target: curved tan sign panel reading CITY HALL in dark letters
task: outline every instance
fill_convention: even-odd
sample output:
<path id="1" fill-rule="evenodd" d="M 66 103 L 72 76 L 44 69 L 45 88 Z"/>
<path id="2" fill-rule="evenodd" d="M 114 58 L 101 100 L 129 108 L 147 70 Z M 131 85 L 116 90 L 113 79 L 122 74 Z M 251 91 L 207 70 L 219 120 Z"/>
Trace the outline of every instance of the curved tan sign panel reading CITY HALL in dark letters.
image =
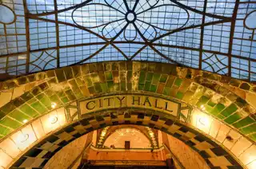
<path id="1" fill-rule="evenodd" d="M 80 102 L 81 114 L 97 112 L 110 108 L 149 108 L 178 116 L 180 104 L 155 96 L 142 95 L 114 95 L 102 96 Z"/>

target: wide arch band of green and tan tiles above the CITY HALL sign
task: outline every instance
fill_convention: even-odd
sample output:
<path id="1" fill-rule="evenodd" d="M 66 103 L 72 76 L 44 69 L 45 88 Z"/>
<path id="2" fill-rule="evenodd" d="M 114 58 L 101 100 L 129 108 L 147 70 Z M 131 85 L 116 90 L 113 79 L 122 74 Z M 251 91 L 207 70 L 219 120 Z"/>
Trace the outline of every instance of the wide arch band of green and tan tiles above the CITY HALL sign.
<path id="1" fill-rule="evenodd" d="M 21 88 L 25 89 L 19 92 Z M 0 137 L 20 128 L 24 120 L 50 112 L 51 102 L 62 107 L 84 97 L 130 91 L 170 96 L 203 108 L 256 140 L 255 85 L 197 69 L 154 62 L 101 62 L 4 81 L 0 91 L 0 99 L 7 100 L 0 108 Z M 13 97 L 8 100 L 6 92 Z"/>

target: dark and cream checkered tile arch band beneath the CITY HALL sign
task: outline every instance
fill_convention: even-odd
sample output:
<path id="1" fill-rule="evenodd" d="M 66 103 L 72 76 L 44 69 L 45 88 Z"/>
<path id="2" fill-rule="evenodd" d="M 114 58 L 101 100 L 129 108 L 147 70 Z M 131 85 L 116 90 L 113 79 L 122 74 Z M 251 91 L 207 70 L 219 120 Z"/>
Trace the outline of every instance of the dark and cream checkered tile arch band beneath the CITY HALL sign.
<path id="1" fill-rule="evenodd" d="M 210 168 L 243 168 L 228 151 L 192 126 L 187 126 L 174 119 L 173 116 L 164 115 L 162 112 L 136 109 L 130 111 L 128 115 L 124 111 L 108 111 L 104 112 L 104 116 L 102 116 L 102 112 L 83 115 L 81 120 L 59 129 L 34 147 L 30 147 L 30 150 L 22 155 L 10 168 L 42 168 L 67 143 L 99 128 L 121 124 L 143 125 L 166 132 L 198 151 Z"/>

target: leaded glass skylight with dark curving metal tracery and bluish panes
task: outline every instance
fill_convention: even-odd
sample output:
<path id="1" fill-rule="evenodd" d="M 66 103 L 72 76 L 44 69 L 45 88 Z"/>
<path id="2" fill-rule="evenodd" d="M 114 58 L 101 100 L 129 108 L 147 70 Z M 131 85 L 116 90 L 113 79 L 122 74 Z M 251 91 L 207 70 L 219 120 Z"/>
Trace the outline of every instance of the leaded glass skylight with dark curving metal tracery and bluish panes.
<path id="1" fill-rule="evenodd" d="M 256 81 L 255 0 L 1 0 L 0 78 L 159 61 Z"/>

